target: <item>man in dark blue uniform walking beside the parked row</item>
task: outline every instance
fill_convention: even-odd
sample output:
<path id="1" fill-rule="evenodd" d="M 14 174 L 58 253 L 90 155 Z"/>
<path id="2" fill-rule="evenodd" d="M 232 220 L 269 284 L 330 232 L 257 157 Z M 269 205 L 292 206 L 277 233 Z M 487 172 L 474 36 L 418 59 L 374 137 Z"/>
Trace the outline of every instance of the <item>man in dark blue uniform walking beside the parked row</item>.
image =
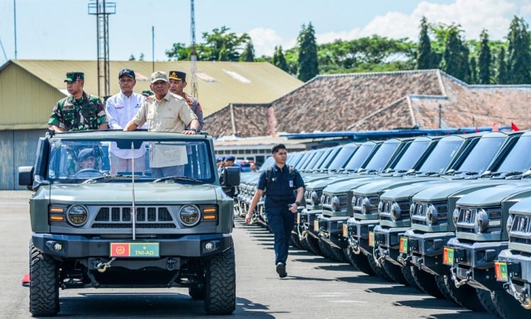
<path id="1" fill-rule="evenodd" d="M 287 250 L 290 247 L 290 235 L 295 224 L 295 213 L 302 196 L 304 181 L 297 169 L 286 165 L 287 150 L 279 144 L 271 150 L 275 159 L 272 167 L 265 169 L 258 178 L 258 186 L 247 211 L 245 223 L 249 224 L 253 211 L 260 198 L 265 194 L 265 213 L 275 235 L 275 269 L 280 278 L 287 276 Z"/>

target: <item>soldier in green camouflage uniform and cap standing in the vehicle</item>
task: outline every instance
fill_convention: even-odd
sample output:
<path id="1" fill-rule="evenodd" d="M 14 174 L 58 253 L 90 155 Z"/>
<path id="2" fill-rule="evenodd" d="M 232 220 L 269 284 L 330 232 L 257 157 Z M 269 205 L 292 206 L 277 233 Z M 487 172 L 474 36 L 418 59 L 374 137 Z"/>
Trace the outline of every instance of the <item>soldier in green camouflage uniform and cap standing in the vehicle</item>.
<path id="1" fill-rule="evenodd" d="M 97 96 L 83 91 L 83 72 L 68 72 L 67 91 L 70 94 L 55 104 L 48 125 L 50 130 L 65 132 L 72 130 L 104 130 L 107 128 L 105 107 Z"/>

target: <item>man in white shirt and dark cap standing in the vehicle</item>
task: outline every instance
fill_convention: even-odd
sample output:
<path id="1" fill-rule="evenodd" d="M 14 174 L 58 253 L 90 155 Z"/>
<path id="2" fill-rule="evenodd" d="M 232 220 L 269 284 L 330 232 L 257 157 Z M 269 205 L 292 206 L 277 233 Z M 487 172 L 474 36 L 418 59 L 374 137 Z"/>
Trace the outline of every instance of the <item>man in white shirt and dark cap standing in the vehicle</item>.
<path id="1" fill-rule="evenodd" d="M 107 121 L 109 128 L 113 130 L 123 130 L 125 125 L 135 117 L 145 101 L 142 94 L 133 92 L 135 84 L 137 84 L 135 71 L 122 69 L 118 74 L 118 83 L 120 84 L 120 93 L 110 96 L 106 103 Z M 145 154 L 146 147 L 144 144 L 139 150 L 131 152 L 131 150 L 120 150 L 116 143 L 112 142 L 109 149 L 110 174 L 132 172 L 133 158 L 135 159 L 135 172 L 144 173 Z"/>

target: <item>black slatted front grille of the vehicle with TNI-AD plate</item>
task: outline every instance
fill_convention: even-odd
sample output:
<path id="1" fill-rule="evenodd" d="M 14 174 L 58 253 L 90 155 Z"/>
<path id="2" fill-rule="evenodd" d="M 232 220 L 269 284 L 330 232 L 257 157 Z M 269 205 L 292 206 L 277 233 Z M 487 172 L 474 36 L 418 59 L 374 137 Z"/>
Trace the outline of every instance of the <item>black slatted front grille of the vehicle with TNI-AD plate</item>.
<path id="1" fill-rule="evenodd" d="M 137 207 L 137 228 L 176 228 L 173 217 L 166 207 Z M 130 206 L 101 207 L 91 225 L 92 228 L 131 228 Z"/>

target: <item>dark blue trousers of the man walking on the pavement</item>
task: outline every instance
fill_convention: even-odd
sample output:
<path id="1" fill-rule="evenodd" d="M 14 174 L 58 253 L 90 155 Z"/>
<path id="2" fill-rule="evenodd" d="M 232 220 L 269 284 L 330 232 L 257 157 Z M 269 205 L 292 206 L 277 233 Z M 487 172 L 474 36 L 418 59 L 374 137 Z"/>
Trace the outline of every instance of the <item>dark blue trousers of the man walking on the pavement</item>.
<path id="1" fill-rule="evenodd" d="M 265 207 L 265 213 L 268 216 L 269 227 L 275 235 L 275 264 L 279 262 L 286 264 L 291 230 L 295 225 L 295 214 L 290 212 L 287 204 L 283 207 Z"/>

